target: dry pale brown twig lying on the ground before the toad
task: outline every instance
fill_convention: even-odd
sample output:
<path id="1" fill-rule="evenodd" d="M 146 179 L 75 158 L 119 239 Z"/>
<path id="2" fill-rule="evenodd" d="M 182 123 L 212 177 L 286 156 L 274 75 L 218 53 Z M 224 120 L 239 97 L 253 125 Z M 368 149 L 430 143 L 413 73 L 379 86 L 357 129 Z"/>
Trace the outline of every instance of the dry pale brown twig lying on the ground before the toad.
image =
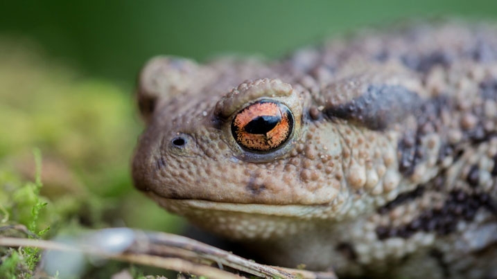
<path id="1" fill-rule="evenodd" d="M 114 239 L 132 238 L 129 239 L 130 244 L 126 244 L 121 251 L 112 253 L 105 249 L 105 245 L 93 242 L 105 240 L 105 235 L 110 235 Z M 0 237 L 0 246 L 33 246 L 46 250 L 80 251 L 101 258 L 146 264 L 209 278 L 245 278 L 243 274 L 259 278 L 336 278 L 333 272 L 283 269 L 257 264 L 188 237 L 168 233 L 145 233 L 125 228 L 109 228 L 78 238 L 75 243 L 69 245 L 49 240 Z M 223 267 L 225 270 L 217 267 Z"/>

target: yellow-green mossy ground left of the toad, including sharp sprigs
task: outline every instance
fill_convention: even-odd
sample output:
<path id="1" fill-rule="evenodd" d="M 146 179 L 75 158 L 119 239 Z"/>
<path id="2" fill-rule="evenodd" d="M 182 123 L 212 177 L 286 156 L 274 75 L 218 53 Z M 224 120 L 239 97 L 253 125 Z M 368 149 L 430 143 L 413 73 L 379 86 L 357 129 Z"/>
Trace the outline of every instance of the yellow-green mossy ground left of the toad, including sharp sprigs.
<path id="1" fill-rule="evenodd" d="M 142 129 L 132 93 L 7 39 L 0 39 L 0 61 L 0 237 L 180 228 L 180 219 L 132 187 L 129 163 Z M 30 233 L 12 228 L 19 224 Z M 30 278 L 40 255 L 0 247 L 0 278 Z M 105 278 L 124 267 L 110 262 L 85 276 Z"/>

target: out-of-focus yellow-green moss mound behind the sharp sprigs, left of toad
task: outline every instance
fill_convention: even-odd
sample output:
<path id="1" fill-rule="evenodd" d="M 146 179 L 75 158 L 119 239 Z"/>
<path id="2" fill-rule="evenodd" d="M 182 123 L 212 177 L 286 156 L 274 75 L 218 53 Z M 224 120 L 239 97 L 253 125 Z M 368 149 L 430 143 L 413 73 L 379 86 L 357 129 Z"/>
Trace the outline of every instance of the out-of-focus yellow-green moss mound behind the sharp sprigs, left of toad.
<path id="1" fill-rule="evenodd" d="M 88 212 L 121 210 L 129 206 L 128 199 L 132 204 L 144 199 L 134 192 L 129 174 L 141 129 L 134 100 L 110 82 L 83 78 L 66 66 L 47 62 L 26 45 L 0 41 L 0 163 L 33 179 L 31 150 L 39 147 L 42 194 L 65 206 L 85 201 L 91 204 Z M 136 210 L 131 211 L 137 217 Z M 153 212 L 159 211 L 140 214 Z M 104 213 L 89 213 L 85 219 L 96 222 L 98 214 Z M 143 220 L 150 220 L 145 227 L 164 229 L 150 218 L 137 222 Z"/>

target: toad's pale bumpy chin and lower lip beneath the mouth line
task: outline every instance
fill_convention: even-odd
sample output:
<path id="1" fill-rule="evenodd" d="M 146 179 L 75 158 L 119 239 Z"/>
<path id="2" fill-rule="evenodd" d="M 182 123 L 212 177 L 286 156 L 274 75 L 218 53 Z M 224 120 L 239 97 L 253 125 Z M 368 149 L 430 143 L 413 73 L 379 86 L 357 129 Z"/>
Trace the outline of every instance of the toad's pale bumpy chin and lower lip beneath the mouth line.
<path id="1" fill-rule="evenodd" d="M 265 241 L 302 235 L 339 221 L 343 204 L 235 204 L 198 199 L 171 199 L 147 192 L 159 206 L 182 215 L 200 228 L 229 240 Z"/>

